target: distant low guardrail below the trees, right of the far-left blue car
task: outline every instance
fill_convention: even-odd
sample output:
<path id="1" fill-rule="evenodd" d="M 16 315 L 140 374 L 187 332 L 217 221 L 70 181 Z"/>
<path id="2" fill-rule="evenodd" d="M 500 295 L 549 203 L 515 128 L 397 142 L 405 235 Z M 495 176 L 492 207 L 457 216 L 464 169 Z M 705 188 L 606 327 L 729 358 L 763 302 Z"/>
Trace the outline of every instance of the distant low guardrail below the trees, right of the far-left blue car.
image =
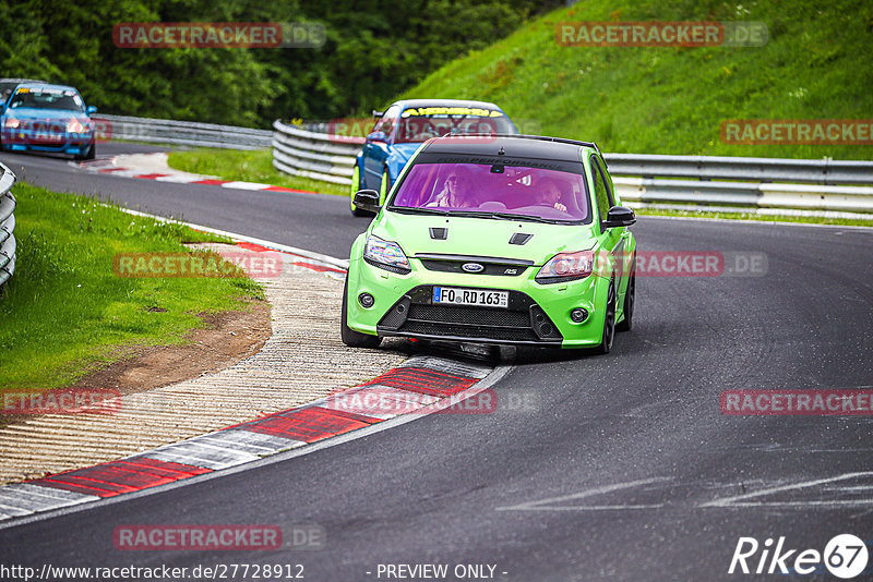
<path id="1" fill-rule="evenodd" d="M 93 116 L 101 140 L 128 140 L 227 149 L 267 148 L 273 132 L 236 125 L 195 123 L 169 119 L 131 118 L 125 116 Z"/>

